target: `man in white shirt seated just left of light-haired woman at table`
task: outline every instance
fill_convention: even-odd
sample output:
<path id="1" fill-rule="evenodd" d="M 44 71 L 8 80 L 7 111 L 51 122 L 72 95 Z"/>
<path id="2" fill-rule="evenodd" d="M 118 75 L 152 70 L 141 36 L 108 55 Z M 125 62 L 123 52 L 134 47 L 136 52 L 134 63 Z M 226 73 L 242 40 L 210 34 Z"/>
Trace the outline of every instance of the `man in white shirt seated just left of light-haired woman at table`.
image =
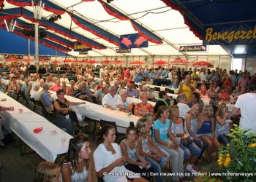
<path id="1" fill-rule="evenodd" d="M 106 106 L 111 110 L 116 110 L 118 98 L 119 95 L 116 95 L 116 86 L 111 86 L 109 88 L 109 93 L 102 98 L 102 106 Z"/>

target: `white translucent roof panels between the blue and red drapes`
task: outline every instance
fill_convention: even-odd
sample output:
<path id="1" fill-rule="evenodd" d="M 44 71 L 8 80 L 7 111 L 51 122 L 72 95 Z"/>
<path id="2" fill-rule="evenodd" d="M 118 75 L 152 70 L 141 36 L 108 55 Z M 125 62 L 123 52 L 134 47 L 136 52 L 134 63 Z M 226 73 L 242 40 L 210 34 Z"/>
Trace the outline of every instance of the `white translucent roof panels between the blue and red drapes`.
<path id="1" fill-rule="evenodd" d="M 132 23 L 129 20 L 119 20 L 102 7 L 99 1 L 81 1 L 81 0 L 61 0 L 53 1 L 54 4 L 58 4 L 59 7 L 66 9 L 69 12 L 74 12 L 75 15 L 82 17 L 84 20 L 88 20 L 94 25 L 99 26 L 113 34 L 113 36 L 119 37 L 124 34 L 137 33 L 132 27 Z M 60 4 L 61 2 L 61 4 Z M 14 8 L 16 6 L 9 4 L 4 1 L 4 9 Z M 137 23 L 148 28 L 151 32 L 155 33 L 162 40 L 162 44 L 154 44 L 148 41 L 149 47 L 143 49 L 132 49 L 131 53 L 117 54 L 116 44 L 110 43 L 105 39 L 96 36 L 94 33 L 84 30 L 76 25 L 71 17 L 65 12 L 61 15 L 61 19 L 57 20 L 55 23 L 61 25 L 65 28 L 70 28 L 75 33 L 79 33 L 82 36 L 86 36 L 89 39 L 97 41 L 97 43 L 107 47 L 105 50 L 93 49 L 89 51 L 89 56 L 121 56 L 121 55 L 183 55 L 178 52 L 177 49 L 173 48 L 170 44 L 173 44 L 178 48 L 179 45 L 190 45 L 190 44 L 202 44 L 202 41 L 198 39 L 191 31 L 187 25 L 184 24 L 184 17 L 170 7 L 167 7 L 161 0 L 114 0 L 110 6 L 115 7 L 124 15 L 129 16 L 129 18 L 134 18 Z M 32 12 L 32 7 L 23 7 Z M 1 12 L 0 12 L 1 13 Z M 49 19 L 52 12 L 43 10 L 43 17 Z M 19 17 L 20 20 L 25 20 L 31 23 L 29 20 Z M 47 30 L 50 31 L 50 30 Z M 55 33 L 54 31 L 50 31 Z M 69 39 L 67 36 L 63 36 L 59 33 L 55 33 L 61 38 L 67 39 L 69 41 L 75 42 L 74 39 Z M 78 52 L 68 52 L 69 55 L 74 56 L 84 56 L 79 55 Z M 228 55 L 225 50 L 220 46 L 208 46 L 207 52 L 187 52 L 187 55 Z"/>

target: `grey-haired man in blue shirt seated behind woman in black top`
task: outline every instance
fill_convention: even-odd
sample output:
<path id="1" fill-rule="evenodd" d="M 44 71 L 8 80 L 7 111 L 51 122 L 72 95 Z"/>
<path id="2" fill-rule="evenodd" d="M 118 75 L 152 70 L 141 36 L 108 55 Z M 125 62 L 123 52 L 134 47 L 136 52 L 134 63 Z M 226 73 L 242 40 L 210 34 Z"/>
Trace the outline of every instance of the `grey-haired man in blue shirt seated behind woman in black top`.
<path id="1" fill-rule="evenodd" d="M 45 111 L 51 113 L 53 111 L 53 103 L 48 93 L 49 87 L 48 83 L 42 84 L 42 90 L 38 92 L 37 100 L 41 101 L 43 106 L 45 106 Z"/>

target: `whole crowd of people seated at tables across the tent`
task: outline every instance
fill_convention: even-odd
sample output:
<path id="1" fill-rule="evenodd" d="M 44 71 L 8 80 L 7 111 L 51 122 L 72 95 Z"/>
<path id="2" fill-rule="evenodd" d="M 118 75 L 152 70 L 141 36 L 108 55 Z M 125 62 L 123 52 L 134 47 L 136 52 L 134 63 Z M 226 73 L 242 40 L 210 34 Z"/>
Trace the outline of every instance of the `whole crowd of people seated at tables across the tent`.
<path id="1" fill-rule="evenodd" d="M 67 74 L 75 76 L 77 79 L 75 82 L 75 80 L 68 79 L 66 74 L 58 77 L 50 73 L 50 70 L 58 69 L 56 66 L 41 67 L 42 70 L 45 68 L 44 74 L 48 74 L 47 76 L 43 77 L 38 73 L 28 74 L 27 69 L 30 68 L 30 65 L 25 66 L 18 63 L 14 63 L 12 66 L 1 65 L 0 91 L 12 92 L 17 95 L 23 92 L 27 103 L 33 99 L 39 100 L 47 112 L 55 111 L 63 116 L 67 116 L 69 106 L 80 104 L 65 99 L 64 95 L 66 94 L 81 100 L 102 104 L 112 110 L 133 112 L 135 116 L 141 118 L 136 130 L 132 128 L 127 131 L 127 138 L 122 141 L 121 146 L 114 143 L 116 131 L 113 127 L 102 127 L 102 141 L 94 152 L 94 165 L 97 176 L 104 178 L 105 181 L 113 181 L 113 178 L 103 176 L 103 173 L 115 170 L 130 171 L 131 174 L 132 171 L 144 173 L 151 170 L 154 170 L 154 173 L 162 173 L 162 169 L 170 157 L 173 173 L 183 173 L 184 170 L 197 173 L 197 160 L 202 154 L 207 161 L 211 161 L 216 157 L 214 151 L 219 149 L 221 143 L 227 145 L 230 142 L 227 134 L 230 132 L 233 122 L 230 121 L 230 114 L 222 101 L 226 103 L 233 100 L 235 103 L 240 95 L 248 92 L 249 84 L 255 84 L 256 80 L 256 75 L 250 77 L 249 72 L 229 71 L 227 73 L 219 68 L 212 71 L 206 71 L 205 68 L 199 71 L 194 70 L 190 72 L 191 75 L 189 71 L 178 68 L 165 71 L 161 66 L 157 69 L 146 68 L 145 70 L 139 66 L 132 69 L 105 66 L 64 66 Z M 94 71 L 99 72 L 99 79 L 95 79 Z M 165 91 L 157 92 L 159 99 L 155 106 L 148 103 L 150 98 L 154 100 L 151 92 L 156 91 L 150 90 L 146 84 L 152 84 L 152 79 L 159 75 L 162 76 L 163 71 L 167 76 L 174 76 L 172 81 L 175 81 L 174 83 L 178 86 L 177 106 L 170 102 L 171 98 Z M 7 72 L 10 74 L 6 74 Z M 135 87 L 135 80 L 141 80 L 136 79 L 136 76 L 142 76 L 145 81 L 141 82 L 140 88 Z M 58 99 L 55 102 L 48 90 L 57 92 Z M 140 98 L 141 102 L 134 104 L 132 98 Z M 209 105 L 204 103 L 204 100 L 208 100 Z M 156 115 L 155 117 L 151 116 L 152 119 L 145 118 L 148 114 Z M 140 122 L 143 124 L 140 125 Z M 152 129 L 150 129 L 151 127 Z M 181 138 L 184 138 L 185 134 L 188 134 L 192 141 L 189 145 L 184 145 L 181 142 Z M 145 142 L 151 143 L 150 146 Z M 88 149 L 88 146 L 86 147 Z M 83 148 L 82 146 L 79 150 Z M 203 151 L 203 149 L 206 150 Z M 106 158 L 101 160 L 99 156 L 102 154 L 105 154 Z M 80 158 L 78 159 L 80 160 Z M 188 163 L 184 167 L 184 161 L 187 159 Z M 76 166 L 79 164 L 74 162 L 73 159 L 69 161 L 67 158 L 63 163 L 62 167 L 64 168 L 61 169 L 63 170 L 61 173 L 66 173 L 64 178 L 72 178 L 70 169 L 74 174 L 85 169 L 88 170 L 87 163 L 83 163 L 83 166 Z M 151 167 L 147 167 L 149 164 Z M 75 167 L 75 171 L 72 170 L 73 167 Z M 132 178 L 135 176 L 125 177 L 126 180 Z M 173 176 L 173 181 L 183 180 L 183 178 L 184 176 L 176 175 Z M 147 179 L 150 181 L 149 176 L 145 176 L 145 181 Z M 162 181 L 162 179 L 159 177 L 157 181 Z"/>

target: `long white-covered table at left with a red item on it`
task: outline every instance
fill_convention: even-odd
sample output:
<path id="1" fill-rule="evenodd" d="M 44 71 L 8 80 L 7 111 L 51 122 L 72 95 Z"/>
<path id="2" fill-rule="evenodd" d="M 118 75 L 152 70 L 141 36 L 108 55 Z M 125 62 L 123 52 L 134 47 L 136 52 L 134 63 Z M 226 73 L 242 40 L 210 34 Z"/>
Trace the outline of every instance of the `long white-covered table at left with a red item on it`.
<path id="1" fill-rule="evenodd" d="M 25 106 L 18 103 L 16 100 L 0 92 L 0 98 L 6 98 L 5 101 L 0 101 L 1 106 L 13 106 L 14 111 L 1 111 L 1 114 L 10 122 L 10 129 L 16 135 L 33 149 L 43 159 L 54 162 L 58 154 L 67 152 L 69 139 L 71 135 L 65 133 L 66 141 L 61 142 L 61 129 L 49 122 L 39 114 L 34 113 Z M 19 109 L 22 109 L 20 113 Z M 43 127 L 42 132 L 34 133 L 33 130 L 37 127 Z M 53 131 L 56 131 L 54 134 Z"/>

